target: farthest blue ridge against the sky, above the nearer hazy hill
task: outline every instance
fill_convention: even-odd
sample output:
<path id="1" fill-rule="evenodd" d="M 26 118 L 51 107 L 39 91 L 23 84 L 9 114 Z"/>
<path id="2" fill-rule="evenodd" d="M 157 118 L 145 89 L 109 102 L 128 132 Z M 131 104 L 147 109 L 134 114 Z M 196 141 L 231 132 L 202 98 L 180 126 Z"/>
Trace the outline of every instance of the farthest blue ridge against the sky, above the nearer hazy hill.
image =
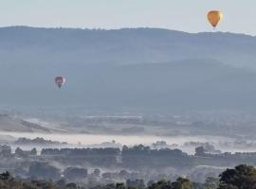
<path id="1" fill-rule="evenodd" d="M 233 33 L 185 33 L 157 28 L 115 30 L 0 28 L 2 63 L 148 63 L 213 59 L 256 68 L 256 38 Z M 18 62 L 17 62 L 18 61 Z"/>

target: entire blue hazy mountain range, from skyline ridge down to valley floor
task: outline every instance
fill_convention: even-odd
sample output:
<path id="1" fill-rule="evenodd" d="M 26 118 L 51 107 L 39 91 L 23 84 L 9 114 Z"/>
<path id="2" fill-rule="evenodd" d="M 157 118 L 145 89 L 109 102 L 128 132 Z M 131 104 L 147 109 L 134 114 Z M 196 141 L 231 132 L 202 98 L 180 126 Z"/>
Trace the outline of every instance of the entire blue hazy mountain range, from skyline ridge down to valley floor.
<path id="1" fill-rule="evenodd" d="M 255 37 L 14 26 L 0 28 L 0 42 L 1 105 L 256 109 Z"/>

